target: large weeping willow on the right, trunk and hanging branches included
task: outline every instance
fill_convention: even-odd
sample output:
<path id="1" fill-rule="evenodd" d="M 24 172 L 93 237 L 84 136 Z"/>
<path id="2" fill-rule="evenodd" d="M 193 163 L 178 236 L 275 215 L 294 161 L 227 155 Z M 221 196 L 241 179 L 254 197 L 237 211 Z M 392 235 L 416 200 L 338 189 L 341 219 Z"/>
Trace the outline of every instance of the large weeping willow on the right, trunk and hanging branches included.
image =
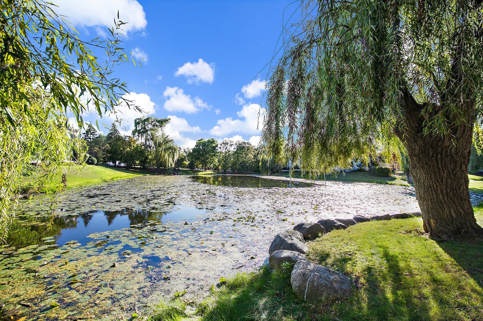
<path id="1" fill-rule="evenodd" d="M 267 85 L 262 140 L 313 173 L 404 149 L 424 229 L 483 234 L 468 193 L 481 141 L 482 0 L 318 0 Z"/>

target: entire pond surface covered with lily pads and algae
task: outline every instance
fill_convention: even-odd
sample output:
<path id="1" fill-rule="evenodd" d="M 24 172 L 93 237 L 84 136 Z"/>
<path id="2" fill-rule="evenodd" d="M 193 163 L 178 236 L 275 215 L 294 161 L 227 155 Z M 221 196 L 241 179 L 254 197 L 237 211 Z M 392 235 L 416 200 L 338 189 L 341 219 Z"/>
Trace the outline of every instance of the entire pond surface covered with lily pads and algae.
<path id="1" fill-rule="evenodd" d="M 0 313 L 8 320 L 143 315 L 161 300 L 194 300 L 221 277 L 253 271 L 275 234 L 298 222 L 418 210 L 404 186 L 246 188 L 187 176 L 70 190 L 53 214 L 49 207 L 47 197 L 21 201 L 0 247 Z"/>

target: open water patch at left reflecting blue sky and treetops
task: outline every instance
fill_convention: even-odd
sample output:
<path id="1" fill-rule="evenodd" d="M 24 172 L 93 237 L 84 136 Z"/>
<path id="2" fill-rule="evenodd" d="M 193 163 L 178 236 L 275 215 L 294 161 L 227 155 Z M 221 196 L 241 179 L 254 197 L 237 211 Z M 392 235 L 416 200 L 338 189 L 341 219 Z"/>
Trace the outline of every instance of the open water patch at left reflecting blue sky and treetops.
<path id="1" fill-rule="evenodd" d="M 145 225 L 148 222 L 179 222 L 206 213 L 208 209 L 195 207 L 175 207 L 167 212 L 142 209 L 122 209 L 117 211 L 93 210 L 79 215 L 56 215 L 53 217 L 19 217 L 12 226 L 7 242 L 17 248 L 40 244 L 43 237 L 55 237 L 56 244 L 76 240 L 85 244 L 92 233 L 111 232 L 132 225 Z"/>

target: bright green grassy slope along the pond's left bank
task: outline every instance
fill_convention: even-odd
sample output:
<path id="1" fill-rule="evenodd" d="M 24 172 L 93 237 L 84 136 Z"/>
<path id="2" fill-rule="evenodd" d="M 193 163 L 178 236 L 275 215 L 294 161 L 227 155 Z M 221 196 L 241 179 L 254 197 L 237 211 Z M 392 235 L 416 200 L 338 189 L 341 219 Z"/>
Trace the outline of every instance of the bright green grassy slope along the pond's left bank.
<path id="1" fill-rule="evenodd" d="M 108 165 L 63 166 L 61 170 L 66 174 L 66 189 L 153 174 L 146 170 L 119 168 Z M 30 179 L 26 177 L 23 181 L 29 182 Z M 55 191 L 57 184 L 58 181 L 49 182 L 45 184 L 44 189 Z"/>

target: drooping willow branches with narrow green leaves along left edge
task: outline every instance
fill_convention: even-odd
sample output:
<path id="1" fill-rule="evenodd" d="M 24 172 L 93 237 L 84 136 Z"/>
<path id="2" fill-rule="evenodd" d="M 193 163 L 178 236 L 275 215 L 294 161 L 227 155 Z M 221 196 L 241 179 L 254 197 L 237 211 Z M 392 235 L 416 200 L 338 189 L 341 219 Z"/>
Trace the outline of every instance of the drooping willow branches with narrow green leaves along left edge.
<path id="1" fill-rule="evenodd" d="M 112 74 L 128 60 L 123 25 L 115 21 L 107 39 L 85 41 L 48 1 L 0 2 L 0 239 L 14 217 L 25 164 L 38 161 L 52 180 L 69 159 L 66 115 L 82 126 L 84 113 L 115 112 L 125 100 L 126 84 Z"/>

